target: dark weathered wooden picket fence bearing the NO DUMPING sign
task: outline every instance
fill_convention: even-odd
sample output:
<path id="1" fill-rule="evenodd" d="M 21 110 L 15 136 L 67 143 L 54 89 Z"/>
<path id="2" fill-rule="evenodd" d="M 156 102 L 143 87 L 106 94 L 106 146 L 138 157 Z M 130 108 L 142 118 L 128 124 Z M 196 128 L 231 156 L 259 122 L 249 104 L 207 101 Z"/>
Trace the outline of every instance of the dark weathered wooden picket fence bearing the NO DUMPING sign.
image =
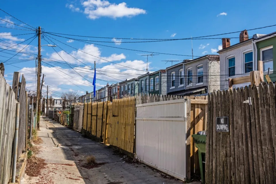
<path id="1" fill-rule="evenodd" d="M 251 103 L 243 103 L 245 100 Z M 276 110 L 272 83 L 208 98 L 205 183 L 275 183 Z M 217 132 L 216 117 L 229 117 Z"/>

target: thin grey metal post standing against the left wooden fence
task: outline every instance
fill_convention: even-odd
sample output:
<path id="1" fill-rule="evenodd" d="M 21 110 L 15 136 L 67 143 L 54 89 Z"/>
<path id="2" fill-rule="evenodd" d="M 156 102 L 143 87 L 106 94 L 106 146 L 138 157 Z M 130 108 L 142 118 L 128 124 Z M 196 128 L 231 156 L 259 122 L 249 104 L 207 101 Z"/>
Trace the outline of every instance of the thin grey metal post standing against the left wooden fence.
<path id="1" fill-rule="evenodd" d="M 12 158 L 12 183 L 15 182 L 15 175 L 16 175 L 18 129 L 19 129 L 19 110 L 20 110 L 20 103 L 16 103 L 15 132 L 14 132 L 14 150 L 13 150 L 13 158 Z"/>

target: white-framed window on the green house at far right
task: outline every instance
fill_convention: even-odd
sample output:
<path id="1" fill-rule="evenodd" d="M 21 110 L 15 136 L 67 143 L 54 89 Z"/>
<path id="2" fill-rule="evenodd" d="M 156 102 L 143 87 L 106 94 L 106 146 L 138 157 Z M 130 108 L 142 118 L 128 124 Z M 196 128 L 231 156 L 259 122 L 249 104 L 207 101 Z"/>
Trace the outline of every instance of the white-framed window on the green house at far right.
<path id="1" fill-rule="evenodd" d="M 263 62 L 263 70 L 268 71 L 269 68 L 270 71 L 273 71 L 273 47 L 270 46 L 268 48 L 263 48 L 260 52 L 260 58 Z"/>

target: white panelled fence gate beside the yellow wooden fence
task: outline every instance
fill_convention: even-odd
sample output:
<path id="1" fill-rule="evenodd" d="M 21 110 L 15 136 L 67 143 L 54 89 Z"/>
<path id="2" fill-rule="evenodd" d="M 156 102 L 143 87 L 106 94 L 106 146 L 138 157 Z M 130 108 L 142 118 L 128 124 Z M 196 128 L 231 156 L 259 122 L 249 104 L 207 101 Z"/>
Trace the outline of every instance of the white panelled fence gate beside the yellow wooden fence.
<path id="1" fill-rule="evenodd" d="M 186 99 L 136 105 L 136 154 L 141 162 L 186 178 Z"/>

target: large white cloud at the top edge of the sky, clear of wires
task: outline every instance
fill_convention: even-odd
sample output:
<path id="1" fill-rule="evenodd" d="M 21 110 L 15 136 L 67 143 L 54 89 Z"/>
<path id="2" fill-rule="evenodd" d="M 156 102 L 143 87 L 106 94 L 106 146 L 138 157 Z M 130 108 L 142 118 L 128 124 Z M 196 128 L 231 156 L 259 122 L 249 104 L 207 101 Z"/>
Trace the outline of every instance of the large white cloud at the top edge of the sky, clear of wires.
<path id="1" fill-rule="evenodd" d="M 125 2 L 115 4 L 105 0 L 87 0 L 83 1 L 82 5 L 84 7 L 84 14 L 90 19 L 97 19 L 100 17 L 121 18 L 146 14 L 146 10 L 136 7 L 127 7 Z"/>

